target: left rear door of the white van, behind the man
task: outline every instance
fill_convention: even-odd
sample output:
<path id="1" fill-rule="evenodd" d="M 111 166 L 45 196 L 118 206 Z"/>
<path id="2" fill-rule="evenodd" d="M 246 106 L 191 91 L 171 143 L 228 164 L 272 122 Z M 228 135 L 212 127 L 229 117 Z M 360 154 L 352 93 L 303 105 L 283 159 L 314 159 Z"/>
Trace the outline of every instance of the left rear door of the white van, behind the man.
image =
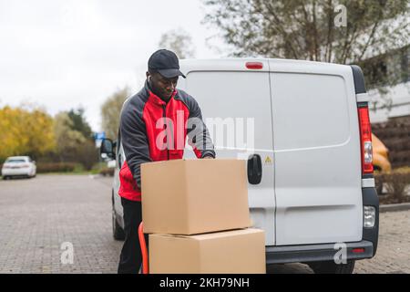
<path id="1" fill-rule="evenodd" d="M 188 61 L 187 61 L 188 62 Z M 266 232 L 266 245 L 274 245 L 272 108 L 268 61 L 262 69 L 247 69 L 244 60 L 181 62 L 185 89 L 200 104 L 217 158 L 248 160 L 261 157 L 261 183 L 249 183 L 253 225 Z M 215 62 L 215 64 L 212 64 Z M 185 157 L 192 156 L 185 151 Z"/>

